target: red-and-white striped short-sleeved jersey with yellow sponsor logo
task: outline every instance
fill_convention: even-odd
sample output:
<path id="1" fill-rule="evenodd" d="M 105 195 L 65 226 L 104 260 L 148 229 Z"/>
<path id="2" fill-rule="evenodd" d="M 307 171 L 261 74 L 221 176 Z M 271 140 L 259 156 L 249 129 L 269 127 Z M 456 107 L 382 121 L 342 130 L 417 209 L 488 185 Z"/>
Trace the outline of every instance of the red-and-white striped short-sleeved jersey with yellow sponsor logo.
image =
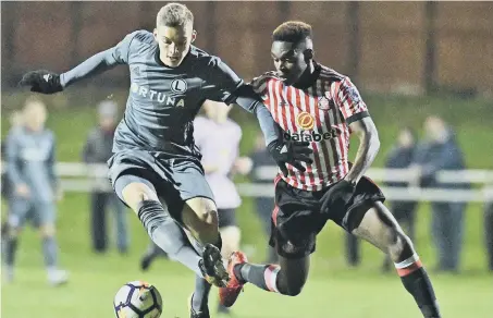
<path id="1" fill-rule="evenodd" d="M 368 115 L 368 109 L 349 77 L 316 64 L 310 86 L 288 86 L 275 72 L 254 78 L 251 85 L 282 129 L 284 139 L 309 142 L 311 164 L 301 172 L 287 164 L 280 176 L 291 186 L 319 191 L 343 179 L 348 168 L 348 124 Z"/>

